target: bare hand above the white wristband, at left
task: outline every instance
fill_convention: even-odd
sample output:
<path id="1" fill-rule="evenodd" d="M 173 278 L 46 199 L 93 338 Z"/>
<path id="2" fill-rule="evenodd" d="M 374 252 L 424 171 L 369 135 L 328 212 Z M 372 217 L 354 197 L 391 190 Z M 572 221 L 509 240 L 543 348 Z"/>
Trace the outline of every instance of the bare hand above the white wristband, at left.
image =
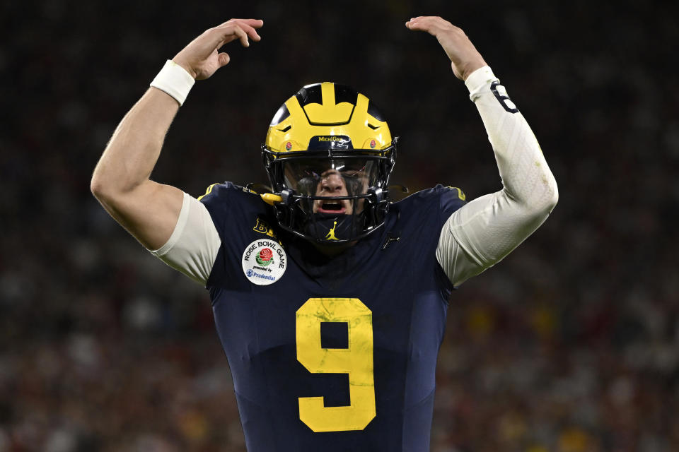
<path id="1" fill-rule="evenodd" d="M 226 52 L 219 52 L 221 46 L 227 42 L 240 40 L 243 47 L 249 47 L 248 37 L 253 41 L 262 39 L 255 30 L 262 25 L 264 20 L 261 19 L 227 20 L 221 25 L 205 30 L 176 54 L 172 61 L 186 69 L 196 80 L 204 80 L 231 60 Z"/>

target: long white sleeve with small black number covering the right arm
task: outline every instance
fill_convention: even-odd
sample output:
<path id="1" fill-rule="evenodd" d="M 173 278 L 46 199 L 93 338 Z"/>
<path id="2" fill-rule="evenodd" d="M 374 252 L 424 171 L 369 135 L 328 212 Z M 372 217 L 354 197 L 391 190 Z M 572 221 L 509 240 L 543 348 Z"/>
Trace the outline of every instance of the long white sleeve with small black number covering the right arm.
<path id="1" fill-rule="evenodd" d="M 465 81 L 493 147 L 503 189 L 465 204 L 443 225 L 436 258 L 455 286 L 521 244 L 559 198 L 533 131 L 497 82 L 488 66 Z"/>

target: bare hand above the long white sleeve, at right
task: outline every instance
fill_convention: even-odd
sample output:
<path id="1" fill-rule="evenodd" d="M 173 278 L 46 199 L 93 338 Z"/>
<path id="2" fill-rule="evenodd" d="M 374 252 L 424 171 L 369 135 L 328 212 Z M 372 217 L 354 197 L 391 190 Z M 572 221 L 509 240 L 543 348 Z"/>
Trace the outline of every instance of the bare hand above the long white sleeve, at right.
<path id="1" fill-rule="evenodd" d="M 470 73 L 486 66 L 483 57 L 465 32 L 448 20 L 438 16 L 419 16 L 408 20 L 405 26 L 410 30 L 426 31 L 436 36 L 439 44 L 446 51 L 446 55 L 451 59 L 455 77 L 462 81 L 467 80 Z"/>

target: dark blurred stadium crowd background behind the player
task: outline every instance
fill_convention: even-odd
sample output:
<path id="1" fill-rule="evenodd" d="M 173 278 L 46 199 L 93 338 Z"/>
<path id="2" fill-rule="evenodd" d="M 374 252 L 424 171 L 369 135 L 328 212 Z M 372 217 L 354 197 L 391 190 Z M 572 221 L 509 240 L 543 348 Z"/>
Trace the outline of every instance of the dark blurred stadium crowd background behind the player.
<path id="1" fill-rule="evenodd" d="M 402 137 L 393 182 L 499 189 L 463 83 L 403 25 L 419 14 L 468 33 L 560 190 L 526 244 L 453 294 L 432 450 L 679 450 L 676 2 L 63 0 L 0 6 L 0 451 L 244 451 L 207 292 L 89 193 L 117 122 L 204 28 L 265 19 L 197 83 L 154 179 L 194 196 L 265 182 L 269 119 L 331 80 Z"/>

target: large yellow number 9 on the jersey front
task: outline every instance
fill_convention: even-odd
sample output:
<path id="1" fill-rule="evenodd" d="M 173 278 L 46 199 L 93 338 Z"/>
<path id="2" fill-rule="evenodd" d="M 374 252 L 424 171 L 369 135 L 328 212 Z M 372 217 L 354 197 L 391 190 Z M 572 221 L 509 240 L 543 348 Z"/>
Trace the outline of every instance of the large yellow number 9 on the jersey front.
<path id="1" fill-rule="evenodd" d="M 321 322 L 345 322 L 348 348 L 323 348 Z M 357 298 L 310 298 L 297 310 L 297 360 L 314 374 L 349 374 L 351 405 L 300 397 L 299 418 L 314 432 L 362 430 L 375 417 L 373 313 Z"/>

